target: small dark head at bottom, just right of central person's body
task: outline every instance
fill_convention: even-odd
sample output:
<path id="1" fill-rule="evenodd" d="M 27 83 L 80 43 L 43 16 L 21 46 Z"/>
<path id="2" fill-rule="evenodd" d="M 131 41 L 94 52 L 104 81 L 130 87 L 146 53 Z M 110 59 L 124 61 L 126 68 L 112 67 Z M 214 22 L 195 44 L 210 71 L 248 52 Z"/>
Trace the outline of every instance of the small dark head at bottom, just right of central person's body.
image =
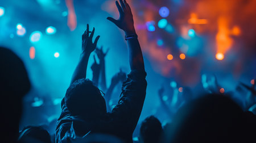
<path id="1" fill-rule="evenodd" d="M 160 121 L 154 117 L 147 117 L 141 124 L 139 132 L 140 142 L 159 142 L 162 136 L 163 128 Z"/>

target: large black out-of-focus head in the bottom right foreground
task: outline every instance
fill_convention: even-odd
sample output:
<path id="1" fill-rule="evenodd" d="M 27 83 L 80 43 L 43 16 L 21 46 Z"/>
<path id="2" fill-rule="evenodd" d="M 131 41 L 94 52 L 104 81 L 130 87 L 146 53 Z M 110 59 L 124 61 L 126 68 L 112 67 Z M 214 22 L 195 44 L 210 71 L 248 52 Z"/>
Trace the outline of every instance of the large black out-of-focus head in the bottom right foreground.
<path id="1" fill-rule="evenodd" d="M 181 107 L 172 121 L 172 142 L 256 142 L 255 124 L 224 95 L 206 95 Z M 252 121 L 253 122 L 253 121 Z M 254 121 L 255 123 L 255 121 Z"/>

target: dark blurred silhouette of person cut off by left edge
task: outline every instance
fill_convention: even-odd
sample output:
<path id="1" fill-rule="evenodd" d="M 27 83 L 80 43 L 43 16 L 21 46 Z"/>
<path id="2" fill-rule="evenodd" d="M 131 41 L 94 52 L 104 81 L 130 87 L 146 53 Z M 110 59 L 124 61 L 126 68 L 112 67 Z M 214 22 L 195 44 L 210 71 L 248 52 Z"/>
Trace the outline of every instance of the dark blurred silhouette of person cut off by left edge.
<path id="1" fill-rule="evenodd" d="M 22 115 L 22 98 L 30 90 L 27 70 L 9 49 L 0 48 L 1 142 L 16 142 Z"/>

